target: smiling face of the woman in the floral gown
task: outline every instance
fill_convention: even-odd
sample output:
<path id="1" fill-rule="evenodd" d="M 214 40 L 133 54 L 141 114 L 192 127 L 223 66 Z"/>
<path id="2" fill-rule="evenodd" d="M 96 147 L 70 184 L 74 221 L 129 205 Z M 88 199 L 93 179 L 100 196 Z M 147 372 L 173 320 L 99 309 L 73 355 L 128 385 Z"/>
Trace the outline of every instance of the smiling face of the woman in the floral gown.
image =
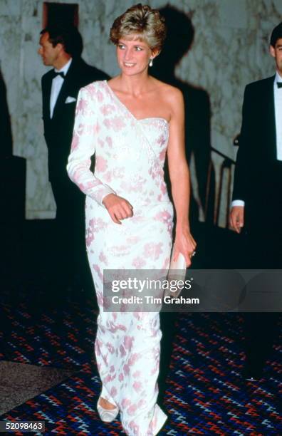
<path id="1" fill-rule="evenodd" d="M 117 63 L 122 73 L 133 76 L 146 71 L 153 56 L 145 41 L 120 38 L 117 43 Z"/>

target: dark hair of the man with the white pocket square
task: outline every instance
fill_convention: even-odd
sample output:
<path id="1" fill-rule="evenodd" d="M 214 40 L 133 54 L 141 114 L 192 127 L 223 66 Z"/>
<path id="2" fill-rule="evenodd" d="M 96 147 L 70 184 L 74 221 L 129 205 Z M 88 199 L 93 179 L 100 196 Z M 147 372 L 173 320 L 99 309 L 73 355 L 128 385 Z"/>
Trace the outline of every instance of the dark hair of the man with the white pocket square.
<path id="1" fill-rule="evenodd" d="M 53 47 L 61 43 L 64 51 L 73 58 L 80 57 L 83 51 L 83 41 L 78 29 L 74 26 L 47 26 L 41 30 L 40 34 L 49 34 L 48 41 Z"/>

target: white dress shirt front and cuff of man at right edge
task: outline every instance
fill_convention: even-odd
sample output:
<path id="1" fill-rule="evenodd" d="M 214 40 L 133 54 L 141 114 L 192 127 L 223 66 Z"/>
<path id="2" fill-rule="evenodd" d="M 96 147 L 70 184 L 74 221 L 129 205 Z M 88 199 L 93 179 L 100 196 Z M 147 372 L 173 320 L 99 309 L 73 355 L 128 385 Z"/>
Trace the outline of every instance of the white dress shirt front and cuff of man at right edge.
<path id="1" fill-rule="evenodd" d="M 282 160 L 282 88 L 278 88 L 277 82 L 282 82 L 282 77 L 276 71 L 274 78 L 274 113 L 276 124 L 276 150 L 277 160 Z M 244 206 L 245 202 L 240 199 L 236 199 L 231 202 L 231 207 Z"/>

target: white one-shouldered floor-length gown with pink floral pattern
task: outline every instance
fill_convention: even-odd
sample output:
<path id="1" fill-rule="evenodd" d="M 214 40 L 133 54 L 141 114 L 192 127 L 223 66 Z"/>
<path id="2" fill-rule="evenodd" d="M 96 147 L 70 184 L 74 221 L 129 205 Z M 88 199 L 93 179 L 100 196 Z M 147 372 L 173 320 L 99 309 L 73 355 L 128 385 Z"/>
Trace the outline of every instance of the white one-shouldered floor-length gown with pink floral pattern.
<path id="1" fill-rule="evenodd" d="M 86 246 L 100 306 L 95 355 L 102 396 L 120 408 L 128 435 L 155 435 L 166 420 L 156 404 L 160 317 L 104 312 L 103 270 L 168 269 L 173 218 L 163 172 L 168 137 L 167 120 L 137 120 L 106 81 L 80 90 L 68 174 L 86 194 Z M 121 225 L 102 204 L 110 193 L 133 207 L 133 217 Z"/>

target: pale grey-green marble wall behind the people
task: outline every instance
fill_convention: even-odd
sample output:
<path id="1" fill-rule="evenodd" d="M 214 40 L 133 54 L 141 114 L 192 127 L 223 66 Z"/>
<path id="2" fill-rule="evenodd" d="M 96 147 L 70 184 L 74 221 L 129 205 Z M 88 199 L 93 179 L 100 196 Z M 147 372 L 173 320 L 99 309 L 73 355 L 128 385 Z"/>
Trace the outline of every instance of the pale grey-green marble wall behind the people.
<path id="1" fill-rule="evenodd" d="M 79 5 L 83 58 L 114 76 L 115 50 L 108 41 L 113 19 L 132 0 L 63 0 Z M 147 1 L 161 8 L 166 1 Z M 192 48 L 177 75 L 207 91 L 211 101 L 211 145 L 234 159 L 233 139 L 239 133 L 246 83 L 275 71 L 268 54 L 269 34 L 282 19 L 281 0 L 172 0 L 194 26 Z M 0 0 L 0 61 L 8 90 L 14 155 L 26 157 L 26 217 L 52 218 L 55 204 L 48 183 L 46 145 L 41 120 L 41 76 L 48 68 L 37 54 L 43 1 Z M 216 183 L 221 158 L 213 154 Z M 193 189 L 197 197 L 192 165 Z M 224 201 L 219 224 L 224 225 Z"/>

